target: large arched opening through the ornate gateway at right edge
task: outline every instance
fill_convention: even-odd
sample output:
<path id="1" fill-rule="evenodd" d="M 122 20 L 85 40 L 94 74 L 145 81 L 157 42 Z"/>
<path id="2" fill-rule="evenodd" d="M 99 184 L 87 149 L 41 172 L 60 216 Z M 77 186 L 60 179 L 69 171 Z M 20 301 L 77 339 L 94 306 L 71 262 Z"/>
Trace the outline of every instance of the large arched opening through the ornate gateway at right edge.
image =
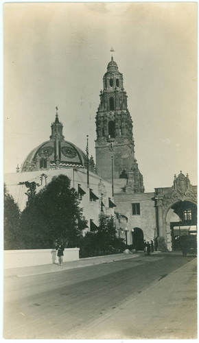
<path id="1" fill-rule="evenodd" d="M 172 250 L 182 250 L 187 237 L 197 235 L 197 206 L 190 201 L 178 201 L 167 212 L 167 237 Z M 167 239 L 168 240 L 168 239 Z"/>

